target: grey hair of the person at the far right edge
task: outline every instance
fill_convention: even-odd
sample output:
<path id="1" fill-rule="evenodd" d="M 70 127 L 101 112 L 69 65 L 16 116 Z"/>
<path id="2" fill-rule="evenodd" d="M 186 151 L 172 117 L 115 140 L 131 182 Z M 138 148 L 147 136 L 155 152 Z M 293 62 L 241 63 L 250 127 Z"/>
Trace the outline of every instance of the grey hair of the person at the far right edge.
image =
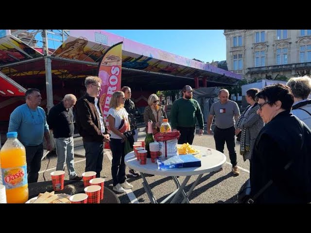
<path id="1" fill-rule="evenodd" d="M 295 98 L 306 100 L 311 93 L 311 79 L 307 75 L 291 78 L 286 84 L 291 88 Z"/>

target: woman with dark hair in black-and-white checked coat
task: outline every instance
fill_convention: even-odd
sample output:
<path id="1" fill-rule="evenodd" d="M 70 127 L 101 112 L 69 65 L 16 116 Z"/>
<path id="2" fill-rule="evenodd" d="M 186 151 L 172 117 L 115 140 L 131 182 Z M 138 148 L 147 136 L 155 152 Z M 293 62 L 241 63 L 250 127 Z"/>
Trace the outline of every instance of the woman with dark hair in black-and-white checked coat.
<path id="1" fill-rule="evenodd" d="M 259 92 L 257 88 L 251 88 L 246 91 L 245 99 L 249 104 L 242 115 L 237 120 L 236 135 L 240 132 L 240 154 L 243 160 L 251 159 L 252 150 L 256 137 L 263 127 L 263 121 L 257 114 L 259 108 L 255 100 L 256 94 Z"/>

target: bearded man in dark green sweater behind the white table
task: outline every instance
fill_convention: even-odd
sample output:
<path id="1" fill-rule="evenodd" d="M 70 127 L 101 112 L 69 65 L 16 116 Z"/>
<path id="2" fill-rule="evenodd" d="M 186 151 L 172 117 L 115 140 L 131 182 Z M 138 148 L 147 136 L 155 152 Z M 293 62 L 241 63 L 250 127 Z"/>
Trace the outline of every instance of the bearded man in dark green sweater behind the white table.
<path id="1" fill-rule="evenodd" d="M 193 89 L 186 85 L 182 89 L 183 97 L 173 102 L 171 110 L 171 124 L 173 131 L 179 131 L 178 144 L 189 143 L 192 145 L 195 135 L 196 119 L 198 120 L 200 131 L 203 135 L 203 114 L 198 101 L 192 99 Z"/>

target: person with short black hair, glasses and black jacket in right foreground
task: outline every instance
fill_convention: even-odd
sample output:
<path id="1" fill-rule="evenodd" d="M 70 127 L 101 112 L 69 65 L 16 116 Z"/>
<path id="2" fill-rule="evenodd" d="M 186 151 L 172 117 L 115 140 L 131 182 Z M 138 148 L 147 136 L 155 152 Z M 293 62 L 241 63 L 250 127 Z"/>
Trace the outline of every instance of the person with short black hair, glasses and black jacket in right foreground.
<path id="1" fill-rule="evenodd" d="M 283 84 L 266 86 L 256 98 L 257 113 L 265 126 L 251 158 L 251 196 L 263 190 L 255 203 L 310 202 L 311 131 L 290 113 L 294 103 L 290 88 Z"/>

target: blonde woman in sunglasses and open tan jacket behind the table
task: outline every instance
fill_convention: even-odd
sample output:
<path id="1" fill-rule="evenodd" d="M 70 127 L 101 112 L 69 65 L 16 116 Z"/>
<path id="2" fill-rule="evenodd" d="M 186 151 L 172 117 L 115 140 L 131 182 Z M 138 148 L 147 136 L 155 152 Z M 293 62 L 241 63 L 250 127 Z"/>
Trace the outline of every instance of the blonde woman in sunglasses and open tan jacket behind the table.
<path id="1" fill-rule="evenodd" d="M 155 94 L 151 94 L 148 98 L 148 106 L 144 111 L 144 121 L 146 124 L 146 132 L 148 132 L 148 121 L 152 120 L 152 133 L 160 132 L 160 119 L 164 116 L 167 119 L 166 113 L 159 105 L 159 98 Z"/>

